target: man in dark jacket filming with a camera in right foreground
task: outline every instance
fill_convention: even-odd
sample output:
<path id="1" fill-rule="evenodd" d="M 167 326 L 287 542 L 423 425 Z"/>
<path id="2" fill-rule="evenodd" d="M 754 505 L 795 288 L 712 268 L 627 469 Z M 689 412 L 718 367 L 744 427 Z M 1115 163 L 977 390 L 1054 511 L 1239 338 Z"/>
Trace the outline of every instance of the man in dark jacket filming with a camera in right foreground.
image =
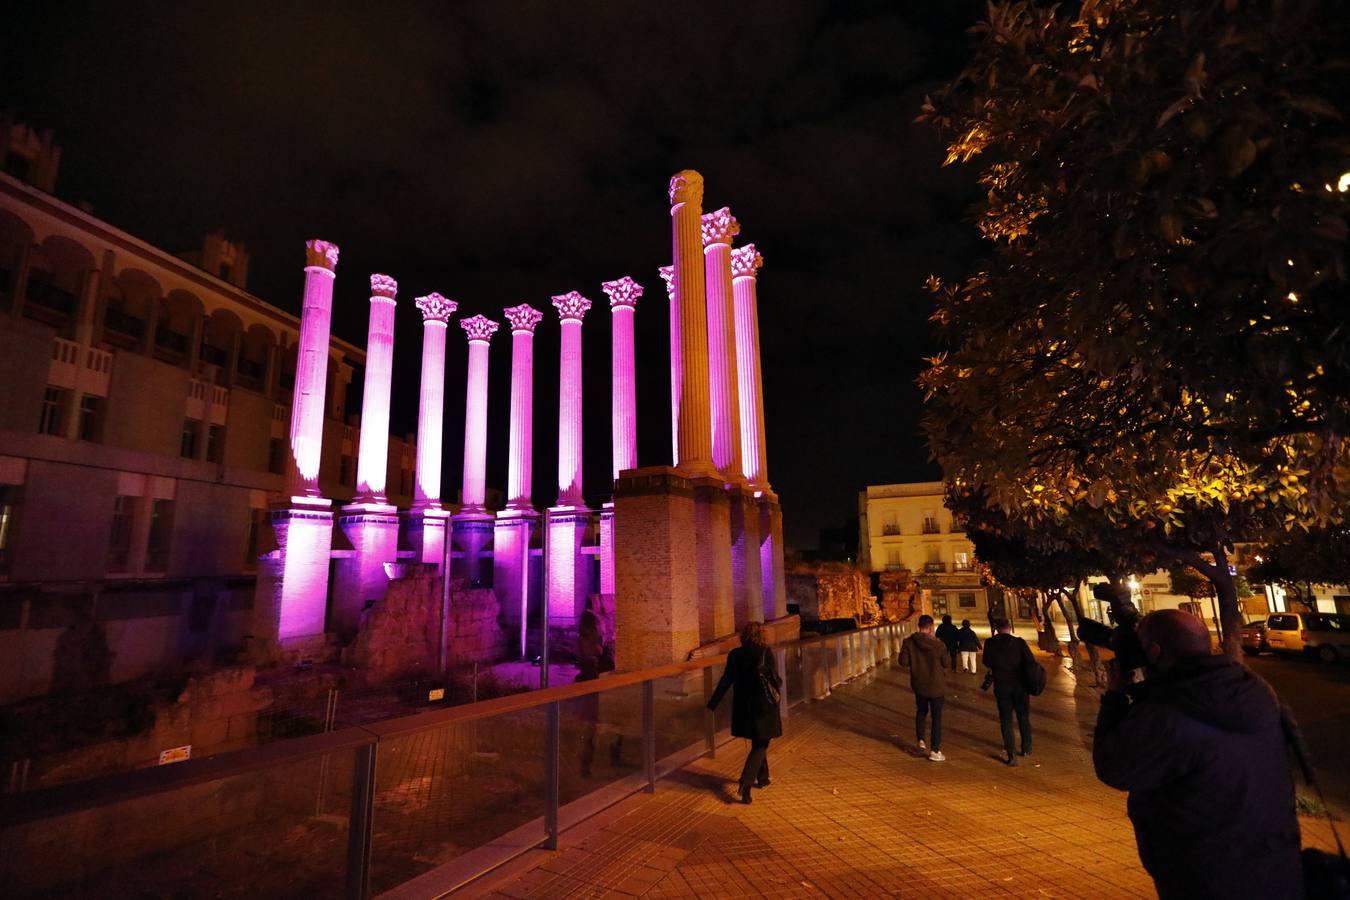
<path id="1" fill-rule="evenodd" d="M 1210 654 L 1204 623 L 1160 610 L 1138 629 L 1148 679 L 1111 672 L 1092 762 L 1129 791 L 1139 861 L 1162 900 L 1301 897 L 1299 820 L 1280 702 Z"/>

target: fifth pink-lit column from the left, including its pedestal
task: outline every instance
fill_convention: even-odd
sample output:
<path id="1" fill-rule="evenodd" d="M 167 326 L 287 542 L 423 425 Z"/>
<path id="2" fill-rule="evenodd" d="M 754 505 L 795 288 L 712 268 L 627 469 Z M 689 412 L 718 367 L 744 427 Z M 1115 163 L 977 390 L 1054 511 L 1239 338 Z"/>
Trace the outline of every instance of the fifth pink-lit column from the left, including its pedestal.
<path id="1" fill-rule="evenodd" d="M 529 633 L 529 544 L 539 514 L 531 503 L 533 452 L 535 328 L 544 317 L 529 304 L 502 310 L 510 322 L 510 445 L 506 470 L 506 509 L 493 528 L 493 591 L 502 619 L 517 634 L 520 656 Z M 537 588 L 536 588 L 537 590 Z"/>

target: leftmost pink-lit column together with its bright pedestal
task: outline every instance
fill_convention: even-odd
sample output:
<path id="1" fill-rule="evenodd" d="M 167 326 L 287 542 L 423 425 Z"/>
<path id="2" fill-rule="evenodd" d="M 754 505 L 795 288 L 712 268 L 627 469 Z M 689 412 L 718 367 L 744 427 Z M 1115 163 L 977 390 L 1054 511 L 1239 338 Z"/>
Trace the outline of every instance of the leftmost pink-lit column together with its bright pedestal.
<path id="1" fill-rule="evenodd" d="M 277 551 L 259 564 L 254 602 L 255 631 L 263 652 L 273 658 L 304 656 L 324 636 L 333 517 L 331 502 L 319 493 L 319 457 L 336 266 L 336 244 L 324 240 L 305 244 L 288 499 L 271 510 Z"/>

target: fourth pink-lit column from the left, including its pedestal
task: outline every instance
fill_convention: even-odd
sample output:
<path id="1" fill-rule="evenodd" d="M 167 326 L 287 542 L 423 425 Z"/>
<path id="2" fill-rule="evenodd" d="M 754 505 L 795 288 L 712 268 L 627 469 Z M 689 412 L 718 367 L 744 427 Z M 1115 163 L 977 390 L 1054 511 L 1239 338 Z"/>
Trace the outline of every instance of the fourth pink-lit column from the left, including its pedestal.
<path id="1" fill-rule="evenodd" d="M 468 337 L 468 378 L 464 394 L 464 483 L 460 511 L 454 518 L 455 545 L 463 555 L 462 571 L 470 584 L 479 582 L 483 548 L 493 517 L 483 509 L 487 471 L 487 349 L 497 322 L 474 316 L 459 322 Z"/>

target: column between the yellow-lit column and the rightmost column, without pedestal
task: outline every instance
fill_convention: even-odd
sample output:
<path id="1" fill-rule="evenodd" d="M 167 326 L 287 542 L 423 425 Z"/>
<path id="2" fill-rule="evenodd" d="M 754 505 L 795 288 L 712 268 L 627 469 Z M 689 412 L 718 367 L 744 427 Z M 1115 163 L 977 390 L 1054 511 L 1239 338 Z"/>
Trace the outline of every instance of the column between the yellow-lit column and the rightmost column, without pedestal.
<path id="1" fill-rule="evenodd" d="M 732 237 L 741 227 L 726 206 L 703 216 L 707 283 L 707 371 L 713 403 L 713 464 L 728 482 L 741 471 L 741 413 L 736 379 L 736 321 L 732 301 Z"/>

